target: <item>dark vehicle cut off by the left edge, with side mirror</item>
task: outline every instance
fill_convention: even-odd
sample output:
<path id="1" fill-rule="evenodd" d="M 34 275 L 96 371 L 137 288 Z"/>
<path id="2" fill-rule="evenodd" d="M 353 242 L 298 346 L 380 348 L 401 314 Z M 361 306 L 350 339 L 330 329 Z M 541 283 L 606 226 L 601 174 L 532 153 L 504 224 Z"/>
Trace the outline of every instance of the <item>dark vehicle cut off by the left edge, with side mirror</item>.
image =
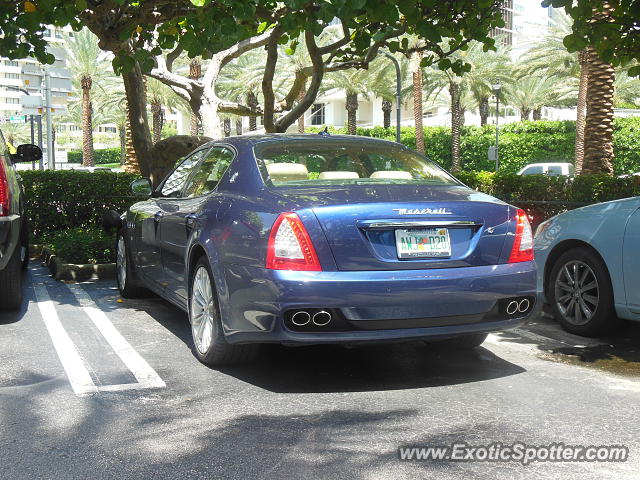
<path id="1" fill-rule="evenodd" d="M 11 154 L 0 131 L 0 310 L 22 303 L 22 270 L 29 263 L 29 228 L 24 215 L 24 191 L 14 162 L 36 161 L 42 151 L 20 145 Z"/>

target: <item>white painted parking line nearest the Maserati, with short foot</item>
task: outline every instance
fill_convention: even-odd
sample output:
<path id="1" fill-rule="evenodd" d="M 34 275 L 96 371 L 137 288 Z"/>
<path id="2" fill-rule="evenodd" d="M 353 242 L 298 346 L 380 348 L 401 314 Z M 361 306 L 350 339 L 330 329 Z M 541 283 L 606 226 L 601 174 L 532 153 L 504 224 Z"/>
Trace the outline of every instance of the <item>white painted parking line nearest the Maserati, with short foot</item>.
<path id="1" fill-rule="evenodd" d="M 166 387 L 164 381 L 151 368 L 142 356 L 134 350 L 122 334 L 114 327 L 107 315 L 100 310 L 89 294 L 79 284 L 66 284 L 75 296 L 76 300 L 89 316 L 93 324 L 100 331 L 105 340 L 109 343 L 113 351 L 120 357 L 125 366 L 136 377 L 137 383 L 126 383 L 122 385 L 98 386 L 100 391 L 121 391 L 143 388 L 163 388 Z"/>

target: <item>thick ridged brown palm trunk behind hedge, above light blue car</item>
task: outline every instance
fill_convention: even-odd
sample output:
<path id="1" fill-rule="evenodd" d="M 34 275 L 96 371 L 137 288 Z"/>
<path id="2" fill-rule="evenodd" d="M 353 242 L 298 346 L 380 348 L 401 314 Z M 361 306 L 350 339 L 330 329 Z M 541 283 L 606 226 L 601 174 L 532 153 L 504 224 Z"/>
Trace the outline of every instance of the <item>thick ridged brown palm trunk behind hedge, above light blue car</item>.
<path id="1" fill-rule="evenodd" d="M 615 70 L 587 47 L 587 117 L 582 173 L 613 174 L 613 94 Z"/>

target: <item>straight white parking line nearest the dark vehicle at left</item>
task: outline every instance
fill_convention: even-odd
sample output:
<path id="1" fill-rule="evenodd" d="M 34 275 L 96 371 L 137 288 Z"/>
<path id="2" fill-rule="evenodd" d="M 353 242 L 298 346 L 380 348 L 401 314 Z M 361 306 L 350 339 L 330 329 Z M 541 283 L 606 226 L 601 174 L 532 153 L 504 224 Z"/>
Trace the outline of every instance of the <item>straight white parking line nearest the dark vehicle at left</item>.
<path id="1" fill-rule="evenodd" d="M 73 388 L 76 395 L 87 395 L 97 392 L 98 387 L 93 382 L 71 338 L 69 338 L 62 323 L 60 323 L 60 318 L 51 301 L 51 297 L 49 297 L 47 287 L 45 287 L 44 284 L 39 284 L 34 285 L 33 288 L 35 290 L 40 314 L 49 331 L 49 336 L 53 341 L 53 346 L 56 349 L 62 367 L 67 374 L 71 388 Z"/>

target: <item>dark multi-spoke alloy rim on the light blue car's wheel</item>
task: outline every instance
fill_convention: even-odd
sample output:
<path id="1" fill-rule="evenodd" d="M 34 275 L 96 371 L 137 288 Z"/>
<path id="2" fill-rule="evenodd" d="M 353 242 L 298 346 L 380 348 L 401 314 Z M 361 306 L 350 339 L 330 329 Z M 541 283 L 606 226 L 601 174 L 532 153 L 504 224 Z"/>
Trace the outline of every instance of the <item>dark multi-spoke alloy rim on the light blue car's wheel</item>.
<path id="1" fill-rule="evenodd" d="M 563 265 L 555 281 L 558 310 L 572 325 L 585 325 L 598 308 L 598 279 L 589 265 L 571 260 Z"/>

